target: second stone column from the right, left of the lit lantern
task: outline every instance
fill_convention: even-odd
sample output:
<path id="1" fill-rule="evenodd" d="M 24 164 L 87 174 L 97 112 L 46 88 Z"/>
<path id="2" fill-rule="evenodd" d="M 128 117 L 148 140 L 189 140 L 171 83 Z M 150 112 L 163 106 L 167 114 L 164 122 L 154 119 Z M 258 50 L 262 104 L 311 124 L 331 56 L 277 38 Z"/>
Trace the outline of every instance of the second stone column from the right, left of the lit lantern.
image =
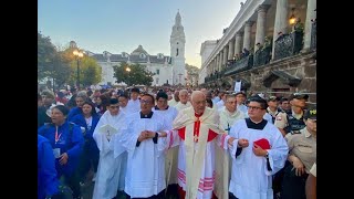
<path id="1" fill-rule="evenodd" d="M 273 32 L 272 59 L 274 59 L 274 46 L 278 33 L 288 33 L 288 0 L 277 0 L 275 21 Z"/>

